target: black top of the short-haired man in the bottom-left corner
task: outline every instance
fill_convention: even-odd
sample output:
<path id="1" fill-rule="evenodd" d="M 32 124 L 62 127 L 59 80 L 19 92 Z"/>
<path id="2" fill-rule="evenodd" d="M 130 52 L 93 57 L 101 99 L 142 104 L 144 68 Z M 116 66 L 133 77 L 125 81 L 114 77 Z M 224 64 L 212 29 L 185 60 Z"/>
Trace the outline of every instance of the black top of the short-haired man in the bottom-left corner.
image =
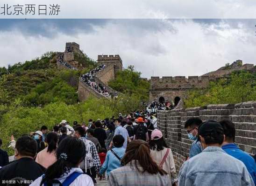
<path id="1" fill-rule="evenodd" d="M 0 183 L 3 183 L 2 180 L 11 180 L 17 177 L 34 181 L 42 176 L 44 171 L 45 168 L 36 163 L 34 159 L 21 158 L 0 169 Z"/>

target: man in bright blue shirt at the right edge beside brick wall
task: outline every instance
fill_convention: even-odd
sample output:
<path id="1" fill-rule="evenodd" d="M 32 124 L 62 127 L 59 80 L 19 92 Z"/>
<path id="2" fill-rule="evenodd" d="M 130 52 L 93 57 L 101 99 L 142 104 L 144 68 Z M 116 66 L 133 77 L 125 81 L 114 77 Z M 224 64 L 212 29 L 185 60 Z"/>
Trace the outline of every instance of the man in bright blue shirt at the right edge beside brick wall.
<path id="1" fill-rule="evenodd" d="M 243 152 L 237 145 L 235 145 L 235 124 L 230 120 L 221 120 L 220 124 L 223 127 L 225 134 L 222 149 L 230 156 L 233 156 L 244 163 L 252 179 L 254 180 L 254 184 L 256 185 L 255 160 L 248 153 Z"/>

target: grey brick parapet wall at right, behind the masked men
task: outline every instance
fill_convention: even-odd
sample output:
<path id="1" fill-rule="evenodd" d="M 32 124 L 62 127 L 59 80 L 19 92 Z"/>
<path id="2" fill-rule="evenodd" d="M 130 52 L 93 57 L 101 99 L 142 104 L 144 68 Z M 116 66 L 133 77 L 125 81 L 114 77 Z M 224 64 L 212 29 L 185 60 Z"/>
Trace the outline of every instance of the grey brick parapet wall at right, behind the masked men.
<path id="1" fill-rule="evenodd" d="M 256 101 L 158 111 L 157 126 L 171 147 L 177 170 L 189 156 L 192 140 L 188 139 L 184 125 L 192 117 L 203 121 L 232 120 L 236 128 L 235 143 L 245 152 L 256 154 Z"/>

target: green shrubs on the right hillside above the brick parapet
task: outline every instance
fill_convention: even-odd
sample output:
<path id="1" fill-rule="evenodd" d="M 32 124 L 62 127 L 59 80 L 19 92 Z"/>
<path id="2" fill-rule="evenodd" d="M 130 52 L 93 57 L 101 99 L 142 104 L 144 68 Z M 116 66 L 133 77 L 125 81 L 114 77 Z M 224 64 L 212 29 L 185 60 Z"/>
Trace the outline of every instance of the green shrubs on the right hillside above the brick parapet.
<path id="1" fill-rule="evenodd" d="M 184 102 L 186 107 L 195 107 L 251 100 L 256 100 L 256 73 L 236 71 L 227 78 L 210 82 L 207 89 L 188 92 Z"/>

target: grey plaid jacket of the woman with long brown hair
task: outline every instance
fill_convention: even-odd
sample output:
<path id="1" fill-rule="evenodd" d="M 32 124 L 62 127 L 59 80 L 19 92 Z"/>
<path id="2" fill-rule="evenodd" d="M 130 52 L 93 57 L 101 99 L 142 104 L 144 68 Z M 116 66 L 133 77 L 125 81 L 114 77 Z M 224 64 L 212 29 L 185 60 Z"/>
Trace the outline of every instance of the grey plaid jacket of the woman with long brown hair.
<path id="1" fill-rule="evenodd" d="M 139 170 L 143 170 L 139 162 L 137 166 Z M 132 160 L 127 165 L 110 172 L 107 186 L 171 186 L 171 180 L 168 174 L 139 172 L 135 160 Z"/>

